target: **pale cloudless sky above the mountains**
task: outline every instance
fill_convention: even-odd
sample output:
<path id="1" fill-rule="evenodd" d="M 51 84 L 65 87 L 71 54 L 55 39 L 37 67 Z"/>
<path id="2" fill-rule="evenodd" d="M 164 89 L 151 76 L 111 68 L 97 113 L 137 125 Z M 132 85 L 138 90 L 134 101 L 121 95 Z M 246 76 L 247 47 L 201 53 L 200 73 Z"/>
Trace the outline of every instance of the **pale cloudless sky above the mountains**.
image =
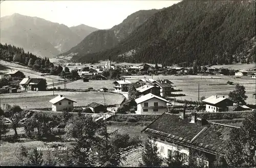
<path id="1" fill-rule="evenodd" d="M 19 13 L 64 24 L 110 29 L 139 10 L 162 9 L 180 1 L 1 1 L 0 16 Z"/>

